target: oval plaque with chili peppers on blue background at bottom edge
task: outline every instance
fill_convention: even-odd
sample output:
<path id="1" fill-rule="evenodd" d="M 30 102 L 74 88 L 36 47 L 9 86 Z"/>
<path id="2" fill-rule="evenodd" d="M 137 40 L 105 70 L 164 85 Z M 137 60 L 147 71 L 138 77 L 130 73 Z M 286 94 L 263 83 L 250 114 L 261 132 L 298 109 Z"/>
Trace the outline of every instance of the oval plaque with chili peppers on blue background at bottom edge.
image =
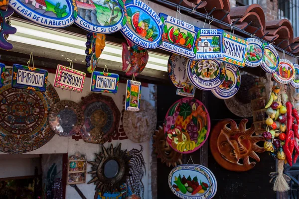
<path id="1" fill-rule="evenodd" d="M 202 165 L 174 167 L 169 173 L 168 185 L 172 193 L 181 199 L 212 199 L 217 192 L 214 174 Z"/>

